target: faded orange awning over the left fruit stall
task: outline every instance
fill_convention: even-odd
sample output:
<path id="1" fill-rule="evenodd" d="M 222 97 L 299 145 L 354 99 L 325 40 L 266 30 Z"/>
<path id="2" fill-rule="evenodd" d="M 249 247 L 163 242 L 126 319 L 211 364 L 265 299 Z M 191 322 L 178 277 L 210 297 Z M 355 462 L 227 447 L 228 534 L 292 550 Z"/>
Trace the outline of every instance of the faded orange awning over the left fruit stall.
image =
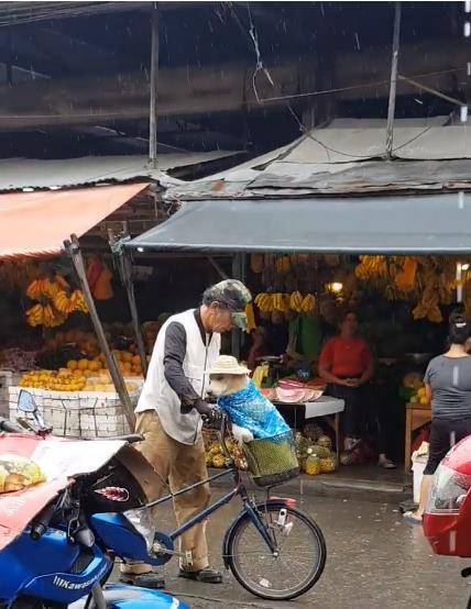
<path id="1" fill-rule="evenodd" d="M 0 195 L 0 258 L 55 254 L 149 184 Z"/>

